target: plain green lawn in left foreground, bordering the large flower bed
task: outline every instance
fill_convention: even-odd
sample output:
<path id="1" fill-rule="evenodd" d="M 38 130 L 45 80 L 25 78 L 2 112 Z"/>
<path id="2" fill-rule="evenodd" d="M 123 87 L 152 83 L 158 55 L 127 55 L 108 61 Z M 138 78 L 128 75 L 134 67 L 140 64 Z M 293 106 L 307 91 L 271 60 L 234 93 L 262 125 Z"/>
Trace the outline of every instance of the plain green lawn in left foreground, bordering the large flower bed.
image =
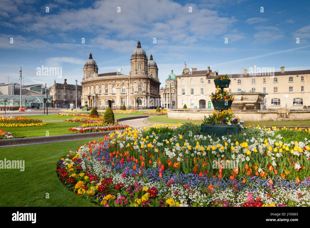
<path id="1" fill-rule="evenodd" d="M 25 170 L 1 169 L 0 206 L 95 206 L 69 191 L 55 172 L 57 162 L 65 154 L 93 140 L 1 148 L 0 160 L 24 160 Z M 49 193 L 49 199 L 46 199 L 46 193 Z"/>

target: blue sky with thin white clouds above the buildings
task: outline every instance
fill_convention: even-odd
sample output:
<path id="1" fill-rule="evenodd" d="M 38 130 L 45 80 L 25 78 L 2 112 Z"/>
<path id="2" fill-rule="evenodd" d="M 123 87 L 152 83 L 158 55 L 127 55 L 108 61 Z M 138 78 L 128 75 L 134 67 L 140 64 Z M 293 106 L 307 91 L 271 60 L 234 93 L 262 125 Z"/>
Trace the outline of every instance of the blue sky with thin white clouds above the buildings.
<path id="1" fill-rule="evenodd" d="M 309 15 L 309 1 L 2 0 L 0 82 L 19 82 L 21 66 L 24 84 L 80 83 L 90 51 L 99 73 L 128 74 L 138 40 L 157 62 L 162 86 L 171 69 L 182 73 L 184 61 L 219 74 L 253 65 L 310 69 Z M 62 67 L 62 78 L 37 76 L 41 65 Z"/>

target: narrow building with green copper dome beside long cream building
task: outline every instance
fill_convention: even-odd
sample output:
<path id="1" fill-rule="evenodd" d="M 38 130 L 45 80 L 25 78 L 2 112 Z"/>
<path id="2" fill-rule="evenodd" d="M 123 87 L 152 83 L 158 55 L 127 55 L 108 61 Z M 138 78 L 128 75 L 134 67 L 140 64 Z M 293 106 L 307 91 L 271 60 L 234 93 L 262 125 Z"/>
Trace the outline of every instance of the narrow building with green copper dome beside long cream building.
<path id="1" fill-rule="evenodd" d="M 171 89 L 170 89 L 171 84 Z M 160 97 L 161 97 L 161 105 L 165 108 L 176 108 L 175 104 L 177 104 L 177 80 L 176 75 L 171 70 L 171 73 L 168 75 L 166 79 L 165 87 L 160 89 Z M 171 102 L 170 102 L 170 93 L 171 93 Z"/>

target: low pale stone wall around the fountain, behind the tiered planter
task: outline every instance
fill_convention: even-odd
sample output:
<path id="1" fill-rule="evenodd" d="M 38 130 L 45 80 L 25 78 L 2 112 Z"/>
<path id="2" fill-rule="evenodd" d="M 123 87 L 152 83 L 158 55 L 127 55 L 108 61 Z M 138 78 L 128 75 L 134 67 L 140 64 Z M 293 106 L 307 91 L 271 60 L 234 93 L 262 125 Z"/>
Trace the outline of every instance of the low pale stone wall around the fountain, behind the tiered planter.
<path id="1" fill-rule="evenodd" d="M 190 110 L 190 111 L 176 111 L 167 110 L 168 118 L 174 119 L 188 119 L 201 120 L 204 116 L 212 114 L 213 110 Z M 292 121 L 292 120 L 309 120 L 310 125 L 310 111 L 309 110 L 234 110 L 237 117 L 242 121 Z"/>

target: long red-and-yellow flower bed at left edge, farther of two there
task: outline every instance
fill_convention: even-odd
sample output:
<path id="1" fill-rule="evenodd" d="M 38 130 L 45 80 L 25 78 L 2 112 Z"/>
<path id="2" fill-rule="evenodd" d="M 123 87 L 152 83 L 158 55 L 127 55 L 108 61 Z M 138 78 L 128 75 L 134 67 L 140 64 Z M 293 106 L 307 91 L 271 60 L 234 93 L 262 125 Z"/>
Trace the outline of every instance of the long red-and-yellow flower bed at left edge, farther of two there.
<path id="1" fill-rule="evenodd" d="M 0 116 L 0 127 L 29 127 L 42 126 L 47 123 L 39 119 L 26 119 L 24 117 Z"/>

